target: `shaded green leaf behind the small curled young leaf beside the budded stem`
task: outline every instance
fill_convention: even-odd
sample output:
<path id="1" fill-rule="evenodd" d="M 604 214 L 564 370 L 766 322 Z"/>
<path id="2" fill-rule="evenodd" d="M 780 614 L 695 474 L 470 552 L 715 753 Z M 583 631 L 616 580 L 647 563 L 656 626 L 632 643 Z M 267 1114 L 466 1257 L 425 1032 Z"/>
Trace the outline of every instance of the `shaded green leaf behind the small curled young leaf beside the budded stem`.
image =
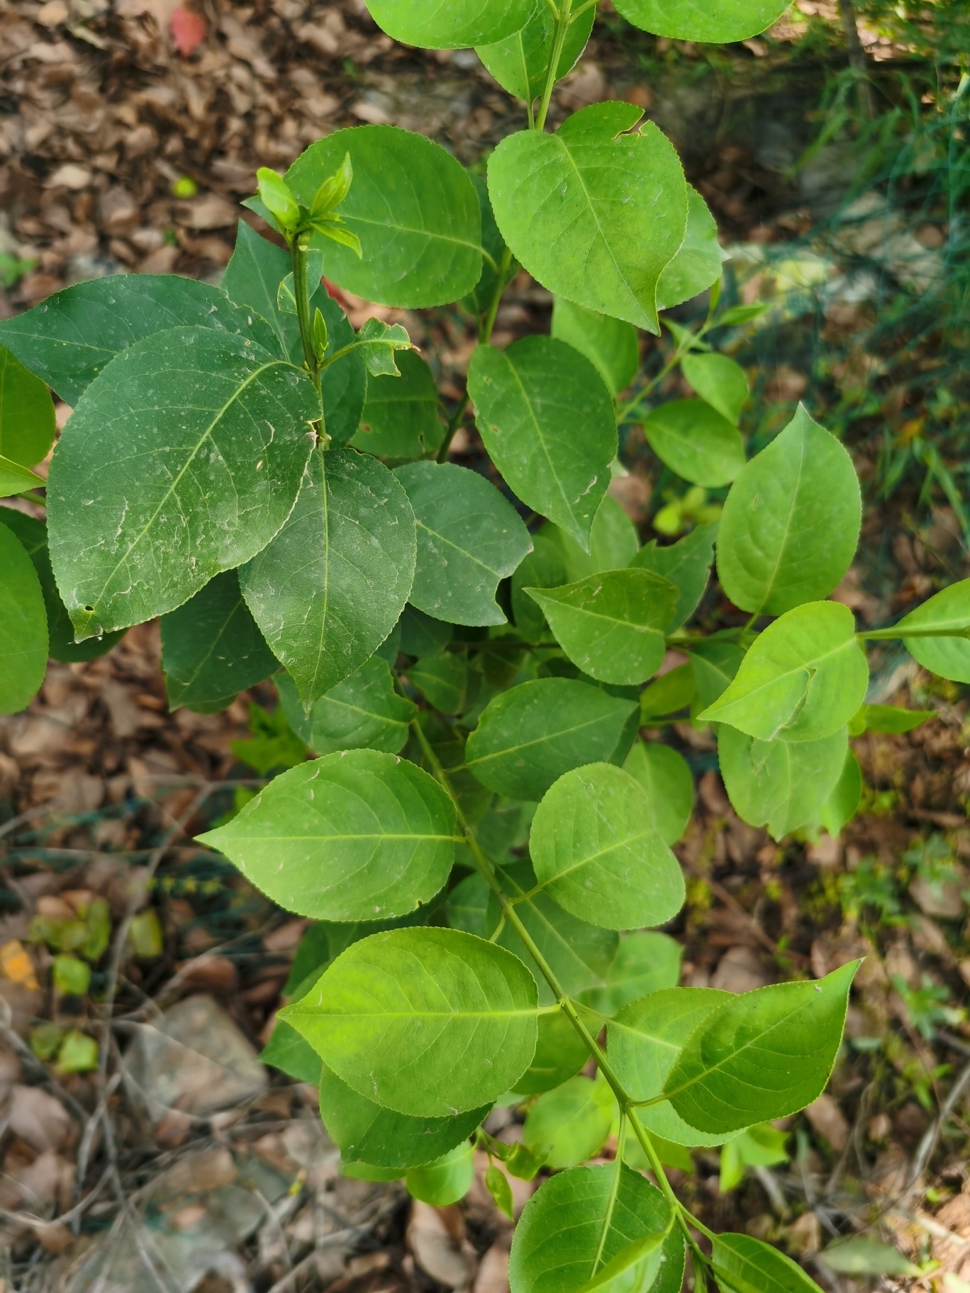
<path id="1" fill-rule="evenodd" d="M 414 350 L 400 354 L 397 362 L 400 378 L 376 378 L 367 385 L 367 403 L 352 443 L 379 458 L 423 458 L 445 437 L 438 388 Z"/>

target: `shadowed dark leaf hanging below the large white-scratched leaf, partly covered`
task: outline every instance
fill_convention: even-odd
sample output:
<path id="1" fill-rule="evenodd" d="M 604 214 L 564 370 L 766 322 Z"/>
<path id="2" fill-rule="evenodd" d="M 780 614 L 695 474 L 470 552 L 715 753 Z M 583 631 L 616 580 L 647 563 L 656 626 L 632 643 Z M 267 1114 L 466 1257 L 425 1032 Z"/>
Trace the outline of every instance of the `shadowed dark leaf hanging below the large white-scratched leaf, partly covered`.
<path id="1" fill-rule="evenodd" d="M 235 570 L 217 574 L 162 617 L 162 668 L 169 709 L 216 714 L 278 668 L 246 606 Z"/>

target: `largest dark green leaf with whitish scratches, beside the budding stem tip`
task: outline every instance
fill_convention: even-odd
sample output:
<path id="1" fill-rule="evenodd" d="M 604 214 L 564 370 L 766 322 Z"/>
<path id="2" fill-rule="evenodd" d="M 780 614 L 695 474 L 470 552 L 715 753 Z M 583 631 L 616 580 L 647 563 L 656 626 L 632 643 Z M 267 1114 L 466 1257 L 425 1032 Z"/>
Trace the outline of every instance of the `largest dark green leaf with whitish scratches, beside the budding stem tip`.
<path id="1" fill-rule="evenodd" d="M 213 327 L 116 356 L 69 419 L 48 482 L 50 561 L 76 636 L 173 610 L 265 547 L 294 506 L 318 409 L 307 374 Z"/>

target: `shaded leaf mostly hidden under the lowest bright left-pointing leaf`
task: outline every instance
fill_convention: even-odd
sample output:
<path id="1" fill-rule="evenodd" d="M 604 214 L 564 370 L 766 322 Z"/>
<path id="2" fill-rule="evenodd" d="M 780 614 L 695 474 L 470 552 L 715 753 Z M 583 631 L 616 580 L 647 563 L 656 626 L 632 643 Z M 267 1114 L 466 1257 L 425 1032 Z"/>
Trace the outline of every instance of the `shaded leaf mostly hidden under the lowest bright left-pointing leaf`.
<path id="1" fill-rule="evenodd" d="M 319 1113 L 344 1162 L 405 1169 L 432 1162 L 467 1140 L 490 1108 L 449 1118 L 409 1117 L 382 1108 L 322 1065 Z"/>

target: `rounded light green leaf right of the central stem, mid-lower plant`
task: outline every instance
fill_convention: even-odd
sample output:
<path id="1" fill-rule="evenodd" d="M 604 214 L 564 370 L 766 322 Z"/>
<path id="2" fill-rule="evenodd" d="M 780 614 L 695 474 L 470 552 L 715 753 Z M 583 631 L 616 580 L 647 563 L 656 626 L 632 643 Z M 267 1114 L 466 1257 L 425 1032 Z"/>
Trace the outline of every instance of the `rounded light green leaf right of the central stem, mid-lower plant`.
<path id="1" fill-rule="evenodd" d="M 533 817 L 535 878 L 581 921 L 609 930 L 663 924 L 683 906 L 680 864 L 653 804 L 629 772 L 594 763 L 566 772 Z"/>

